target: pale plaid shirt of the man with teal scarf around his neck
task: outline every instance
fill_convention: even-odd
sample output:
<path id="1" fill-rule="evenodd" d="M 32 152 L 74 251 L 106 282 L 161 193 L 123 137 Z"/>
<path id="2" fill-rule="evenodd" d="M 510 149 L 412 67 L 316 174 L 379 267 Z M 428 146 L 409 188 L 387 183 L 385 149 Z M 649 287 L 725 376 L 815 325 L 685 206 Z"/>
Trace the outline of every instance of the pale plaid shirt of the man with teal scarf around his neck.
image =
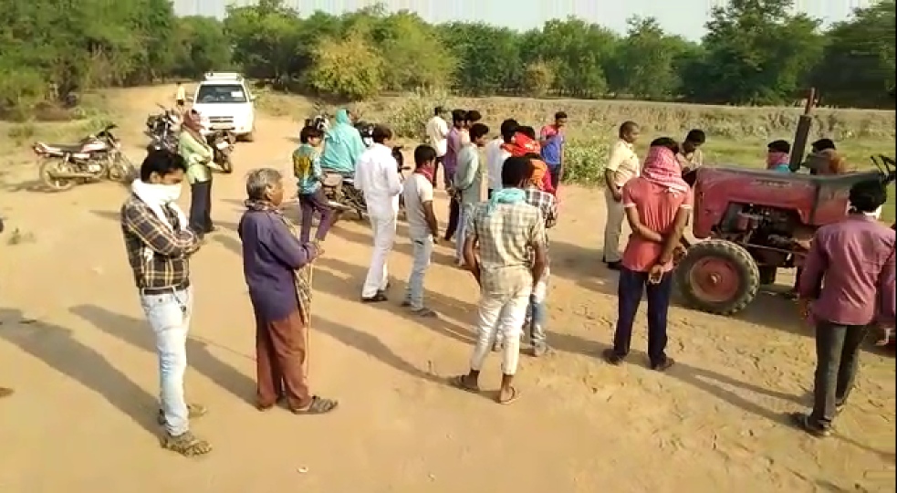
<path id="1" fill-rule="evenodd" d="M 479 244 L 484 291 L 511 294 L 520 282 L 532 283 L 531 246 L 545 244 L 545 221 L 526 202 L 495 205 L 492 214 L 486 214 L 487 207 L 487 202 L 475 205 L 465 231 Z"/>

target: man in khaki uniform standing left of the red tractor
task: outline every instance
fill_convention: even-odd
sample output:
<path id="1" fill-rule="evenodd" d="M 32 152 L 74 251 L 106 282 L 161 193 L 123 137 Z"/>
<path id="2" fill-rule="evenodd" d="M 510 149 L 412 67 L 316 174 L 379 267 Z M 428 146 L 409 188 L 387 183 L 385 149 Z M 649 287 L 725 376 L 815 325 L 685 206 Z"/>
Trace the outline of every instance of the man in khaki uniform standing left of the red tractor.
<path id="1" fill-rule="evenodd" d="M 604 198 L 607 203 L 607 221 L 604 224 L 604 257 L 608 268 L 620 270 L 620 235 L 625 212 L 623 210 L 623 185 L 641 174 L 639 156 L 635 153 L 635 141 L 639 138 L 639 125 L 624 121 L 620 126 L 620 139 L 610 149 L 610 161 L 604 168 Z"/>

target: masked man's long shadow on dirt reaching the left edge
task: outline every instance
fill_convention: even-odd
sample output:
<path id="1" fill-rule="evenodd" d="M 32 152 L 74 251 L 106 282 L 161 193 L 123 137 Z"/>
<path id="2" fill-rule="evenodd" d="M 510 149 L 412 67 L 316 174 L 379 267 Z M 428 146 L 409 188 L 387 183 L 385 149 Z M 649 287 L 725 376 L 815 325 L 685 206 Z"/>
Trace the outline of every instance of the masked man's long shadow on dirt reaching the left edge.
<path id="1" fill-rule="evenodd" d="M 76 340 L 72 330 L 26 320 L 18 309 L 0 309 L 0 323 L 0 338 L 99 393 L 144 430 L 159 435 L 156 398 L 112 366 L 105 356 Z"/>

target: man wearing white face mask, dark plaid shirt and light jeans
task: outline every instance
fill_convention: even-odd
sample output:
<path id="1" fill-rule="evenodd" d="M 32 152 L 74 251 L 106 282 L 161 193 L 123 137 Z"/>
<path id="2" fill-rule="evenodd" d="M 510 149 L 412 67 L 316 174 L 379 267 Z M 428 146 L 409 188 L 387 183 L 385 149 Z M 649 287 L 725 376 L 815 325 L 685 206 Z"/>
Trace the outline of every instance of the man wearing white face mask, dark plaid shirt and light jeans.
<path id="1" fill-rule="evenodd" d="M 187 370 L 187 328 L 193 310 L 189 257 L 200 247 L 199 236 L 175 201 L 187 165 L 165 150 L 150 152 L 141 176 L 131 184 L 130 198 L 121 206 L 121 232 L 141 305 L 156 337 L 159 357 L 159 424 L 165 427 L 162 446 L 183 456 L 198 456 L 212 448 L 190 432 L 189 418 L 205 414 L 183 396 Z"/>

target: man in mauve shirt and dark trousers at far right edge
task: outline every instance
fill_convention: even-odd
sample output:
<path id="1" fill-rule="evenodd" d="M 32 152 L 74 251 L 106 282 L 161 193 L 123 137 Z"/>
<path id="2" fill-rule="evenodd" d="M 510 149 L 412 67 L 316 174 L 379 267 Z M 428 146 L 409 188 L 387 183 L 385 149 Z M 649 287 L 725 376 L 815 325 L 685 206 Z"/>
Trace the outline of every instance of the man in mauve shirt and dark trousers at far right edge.
<path id="1" fill-rule="evenodd" d="M 853 185 L 851 214 L 820 227 L 804 260 L 798 299 L 816 325 L 816 376 L 813 411 L 791 417 L 811 435 L 829 435 L 847 404 L 867 327 L 894 326 L 894 230 L 878 221 L 887 199 L 878 180 Z"/>

